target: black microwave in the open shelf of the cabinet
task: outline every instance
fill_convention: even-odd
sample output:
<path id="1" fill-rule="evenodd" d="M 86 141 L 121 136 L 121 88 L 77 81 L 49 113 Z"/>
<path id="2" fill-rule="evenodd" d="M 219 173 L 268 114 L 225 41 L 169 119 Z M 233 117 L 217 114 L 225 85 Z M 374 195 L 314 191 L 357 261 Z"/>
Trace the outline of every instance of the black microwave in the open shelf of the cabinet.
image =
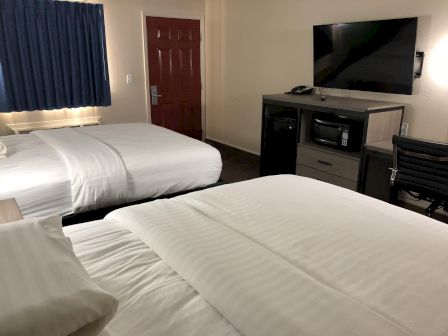
<path id="1" fill-rule="evenodd" d="M 311 139 L 321 145 L 357 152 L 361 150 L 363 127 L 362 121 L 314 113 Z"/>

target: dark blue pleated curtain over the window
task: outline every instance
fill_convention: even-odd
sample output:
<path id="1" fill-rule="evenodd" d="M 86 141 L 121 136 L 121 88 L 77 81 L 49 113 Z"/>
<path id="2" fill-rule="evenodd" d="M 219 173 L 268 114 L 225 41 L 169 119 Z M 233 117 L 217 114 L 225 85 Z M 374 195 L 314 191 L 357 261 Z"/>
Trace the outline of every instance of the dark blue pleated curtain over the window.
<path id="1" fill-rule="evenodd" d="M 110 104 L 103 5 L 0 0 L 0 112 Z"/>

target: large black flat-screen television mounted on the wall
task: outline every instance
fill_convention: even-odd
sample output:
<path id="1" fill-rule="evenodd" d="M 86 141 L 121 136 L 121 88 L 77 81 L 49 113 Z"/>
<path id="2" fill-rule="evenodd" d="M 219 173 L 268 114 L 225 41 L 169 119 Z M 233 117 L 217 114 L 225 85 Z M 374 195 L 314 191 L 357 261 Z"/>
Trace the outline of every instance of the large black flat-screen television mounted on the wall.
<path id="1" fill-rule="evenodd" d="M 314 86 L 412 94 L 417 18 L 314 26 Z"/>

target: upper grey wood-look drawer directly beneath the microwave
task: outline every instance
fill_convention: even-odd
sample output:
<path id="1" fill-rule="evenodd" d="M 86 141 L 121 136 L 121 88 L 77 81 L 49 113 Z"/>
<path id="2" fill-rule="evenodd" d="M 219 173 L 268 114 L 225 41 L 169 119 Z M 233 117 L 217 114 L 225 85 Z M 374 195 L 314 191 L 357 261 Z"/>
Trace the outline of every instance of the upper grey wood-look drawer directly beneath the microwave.
<path id="1" fill-rule="evenodd" d="M 298 146 L 297 164 L 316 168 L 326 173 L 357 181 L 359 159 L 343 157 L 314 148 Z"/>

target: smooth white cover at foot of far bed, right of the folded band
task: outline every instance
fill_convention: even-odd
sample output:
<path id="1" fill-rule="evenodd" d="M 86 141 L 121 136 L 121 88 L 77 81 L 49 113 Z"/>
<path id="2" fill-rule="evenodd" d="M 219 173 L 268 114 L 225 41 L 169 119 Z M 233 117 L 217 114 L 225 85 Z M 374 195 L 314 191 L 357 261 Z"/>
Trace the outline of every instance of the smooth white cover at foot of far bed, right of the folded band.
<path id="1" fill-rule="evenodd" d="M 217 149 L 163 127 L 111 124 L 80 131 L 120 154 L 136 200 L 203 187 L 216 183 L 221 175 L 222 161 Z"/>

